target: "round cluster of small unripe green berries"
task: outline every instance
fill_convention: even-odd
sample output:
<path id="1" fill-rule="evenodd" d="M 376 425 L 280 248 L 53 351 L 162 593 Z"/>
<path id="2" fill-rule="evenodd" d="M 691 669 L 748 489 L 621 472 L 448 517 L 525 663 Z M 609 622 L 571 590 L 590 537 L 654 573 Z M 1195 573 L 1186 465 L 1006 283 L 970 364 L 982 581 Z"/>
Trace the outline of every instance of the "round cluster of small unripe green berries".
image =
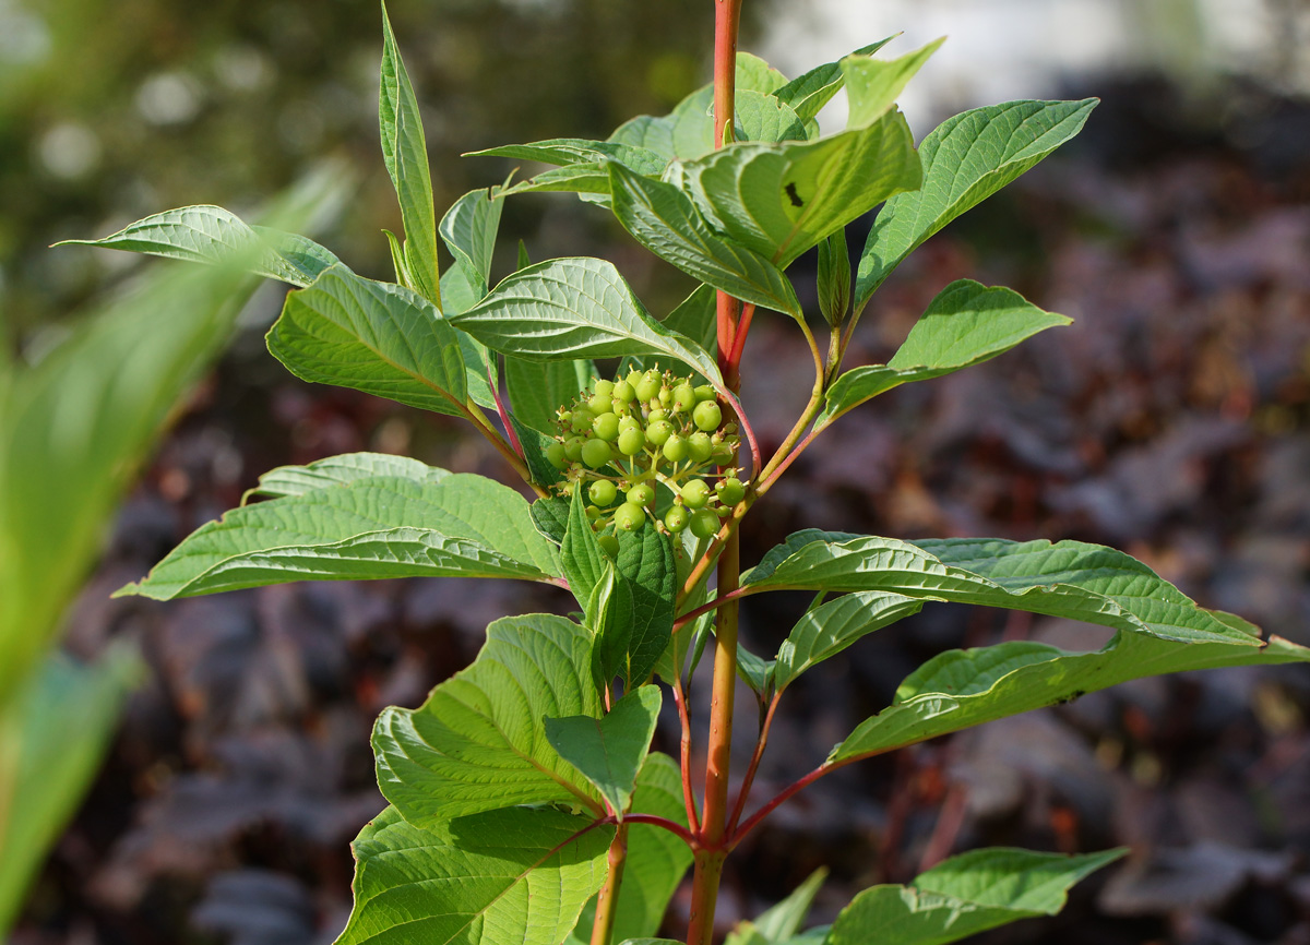
<path id="1" fill-rule="evenodd" d="M 635 531 L 647 516 L 668 533 L 690 529 L 697 538 L 719 530 L 719 520 L 745 497 L 735 469 L 739 438 L 723 423 L 714 387 L 669 372 L 633 372 L 596 381 L 559 410 L 559 435 L 546 459 L 565 470 L 558 487 L 586 488 L 587 516 L 600 543 L 613 554 L 613 530 Z M 707 479 L 718 482 L 711 487 Z M 673 493 L 663 518 L 654 516 L 655 484 Z"/>

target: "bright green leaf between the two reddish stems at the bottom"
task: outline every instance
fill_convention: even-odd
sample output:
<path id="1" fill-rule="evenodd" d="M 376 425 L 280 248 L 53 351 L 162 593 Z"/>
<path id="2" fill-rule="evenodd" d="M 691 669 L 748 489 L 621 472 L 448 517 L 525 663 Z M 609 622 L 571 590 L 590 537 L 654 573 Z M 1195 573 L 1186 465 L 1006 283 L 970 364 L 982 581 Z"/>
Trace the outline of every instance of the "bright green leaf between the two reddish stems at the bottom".
<path id="1" fill-rule="evenodd" d="M 652 751 L 637 776 L 633 813 L 655 814 L 686 827 L 683 804 L 683 774 L 668 755 Z M 692 851 L 681 839 L 648 823 L 627 825 L 627 861 L 618 889 L 613 941 L 651 936 L 659 932 L 669 899 L 677 890 Z M 583 910 L 574 938 L 591 941 L 595 900 Z M 654 940 L 651 940 L 654 941 Z"/>

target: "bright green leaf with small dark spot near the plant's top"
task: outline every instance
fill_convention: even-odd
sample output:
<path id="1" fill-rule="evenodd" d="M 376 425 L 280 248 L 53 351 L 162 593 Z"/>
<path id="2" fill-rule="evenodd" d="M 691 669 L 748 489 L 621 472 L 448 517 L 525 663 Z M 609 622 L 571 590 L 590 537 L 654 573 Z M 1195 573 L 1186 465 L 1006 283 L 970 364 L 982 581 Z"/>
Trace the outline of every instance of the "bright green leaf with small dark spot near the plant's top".
<path id="1" fill-rule="evenodd" d="M 710 224 L 783 268 L 921 181 L 914 139 L 899 111 L 819 141 L 734 144 L 686 162 L 684 174 Z"/>

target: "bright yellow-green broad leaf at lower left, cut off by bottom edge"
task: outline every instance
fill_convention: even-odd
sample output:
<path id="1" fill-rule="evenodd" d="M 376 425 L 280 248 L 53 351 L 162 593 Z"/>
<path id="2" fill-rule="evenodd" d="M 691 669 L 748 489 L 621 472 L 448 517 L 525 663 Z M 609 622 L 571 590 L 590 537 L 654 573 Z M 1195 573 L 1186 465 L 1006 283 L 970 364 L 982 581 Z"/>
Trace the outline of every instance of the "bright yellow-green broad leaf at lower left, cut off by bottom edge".
<path id="1" fill-rule="evenodd" d="M 516 808 L 432 823 L 388 808 L 360 831 L 337 945 L 557 945 L 605 880 L 613 827 Z"/>

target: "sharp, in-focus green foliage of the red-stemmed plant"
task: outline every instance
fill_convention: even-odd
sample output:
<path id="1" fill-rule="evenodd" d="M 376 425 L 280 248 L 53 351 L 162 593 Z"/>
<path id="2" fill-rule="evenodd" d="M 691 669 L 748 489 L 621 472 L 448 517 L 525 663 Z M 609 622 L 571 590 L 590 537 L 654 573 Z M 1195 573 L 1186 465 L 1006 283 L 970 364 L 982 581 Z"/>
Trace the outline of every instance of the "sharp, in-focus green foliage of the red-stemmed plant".
<path id="1" fill-rule="evenodd" d="M 460 576 L 536 581 L 572 596 L 570 616 L 496 620 L 472 666 L 418 708 L 393 707 L 379 717 L 373 750 L 389 806 L 355 843 L 355 908 L 343 945 L 558 945 L 591 941 L 593 918 L 613 923 L 614 940 L 658 941 L 651 936 L 692 848 L 720 852 L 740 839 L 735 818 L 722 836 L 698 832 L 688 817 L 690 772 L 651 751 L 665 704 L 660 685 L 677 686 L 683 698 L 686 654 L 698 656 L 713 611 L 728 599 L 783 589 L 816 594 L 773 658 L 739 652 L 738 673 L 769 707 L 768 717 L 800 674 L 933 602 L 1116 631 L 1095 652 L 1006 643 L 939 654 L 834 746 L 823 770 L 1140 675 L 1310 661 L 1305 648 L 1263 641 L 1239 618 L 1199 607 L 1140 562 L 1078 542 L 800 531 L 743 575 L 736 590 L 711 599 L 705 575 L 723 535 L 795 457 L 789 450 L 808 442 L 807 428 L 812 437 L 878 394 L 980 364 L 1069 322 L 1010 289 L 960 280 L 939 292 L 887 364 L 841 373 L 855 321 L 892 270 L 1076 135 L 1095 103 L 977 109 L 916 148 L 895 102 L 941 41 L 875 59 L 882 45 L 794 80 L 741 54 L 735 140 L 722 148 L 714 147 L 706 86 L 669 115 L 635 118 L 604 141 L 552 139 L 479 152 L 553 169 L 466 194 L 438 221 L 418 99 L 386 25 L 380 131 L 403 230 L 388 233 L 394 281 L 360 276 L 304 237 L 249 226 L 216 207 L 161 213 L 93 241 L 290 283 L 296 288 L 267 340 L 292 373 L 464 418 L 538 496 L 529 505 L 490 479 L 379 454 L 274 470 L 252 491 L 262 501 L 203 526 L 121 592 L 172 599 L 296 580 Z M 850 120 L 823 137 L 816 114 L 842 88 Z M 520 251 L 516 270 L 494 280 L 503 203 L 536 191 L 576 192 L 609 208 L 698 288 L 659 319 L 601 259 L 533 264 Z M 879 205 L 853 272 L 845 228 Z M 451 260 L 444 271 L 441 246 Z M 827 363 L 786 274 L 811 249 L 819 255 L 819 310 L 832 332 Z M 675 527 L 683 505 L 703 509 L 709 501 L 703 480 L 683 480 L 735 467 L 738 424 L 758 452 L 734 393 L 741 339 L 719 336 L 718 293 L 802 326 L 817 366 L 814 397 L 778 455 L 768 463 L 753 455 L 748 482 L 734 474 L 720 483 L 731 500 L 703 513 L 709 527 Z M 743 312 L 734 331 L 744 336 L 748 322 Z M 654 378 L 656 393 L 610 398 L 616 383 L 595 382 L 597 359 L 621 359 L 618 385 Z M 692 393 L 680 406 L 664 404 L 659 398 L 673 391 L 658 378 L 688 372 L 707 383 L 697 390 L 688 381 Z M 595 415 L 575 399 L 587 389 Z M 609 465 L 618 416 L 635 421 L 631 403 L 647 421 L 646 436 L 664 419 L 655 410 L 685 412 L 686 398 L 698 402 L 693 419 L 706 442 L 709 431 L 726 432 L 722 452 L 706 449 L 692 462 L 629 437 L 635 445 L 622 450 L 626 465 Z M 572 407 L 567 416 L 558 412 L 562 404 Z M 499 428 L 483 411 L 495 412 Z M 574 436 L 557 442 L 561 418 Z M 614 429 L 587 427 L 601 420 Z M 567 453 L 574 440 L 578 457 Z M 559 461 L 563 452 L 579 462 L 587 449 L 590 471 Z M 580 482 L 588 476 L 604 487 L 595 495 L 605 496 L 595 499 L 591 517 Z M 603 546 L 592 518 L 605 514 L 600 507 L 614 501 L 620 486 L 637 514 L 625 518 L 631 527 L 603 535 Z M 831 928 L 803 931 L 823 881 L 816 876 L 739 927 L 731 942 L 955 941 L 1058 910 L 1073 882 L 1117 855 L 967 853 L 909 886 L 866 890 Z M 626 863 L 617 890 L 612 863 Z M 610 885 L 599 895 L 603 883 Z"/>

